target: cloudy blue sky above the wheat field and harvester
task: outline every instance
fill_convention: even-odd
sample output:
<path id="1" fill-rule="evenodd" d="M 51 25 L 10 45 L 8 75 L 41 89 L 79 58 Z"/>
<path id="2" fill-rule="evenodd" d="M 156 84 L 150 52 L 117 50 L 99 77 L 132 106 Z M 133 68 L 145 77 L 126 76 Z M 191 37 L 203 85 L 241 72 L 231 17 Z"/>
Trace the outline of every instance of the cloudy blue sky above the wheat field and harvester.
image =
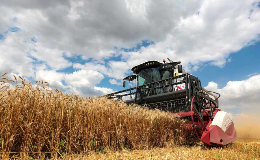
<path id="1" fill-rule="evenodd" d="M 84 97 L 170 58 L 232 113 L 260 112 L 260 1 L 0 2 L 0 73 Z"/>

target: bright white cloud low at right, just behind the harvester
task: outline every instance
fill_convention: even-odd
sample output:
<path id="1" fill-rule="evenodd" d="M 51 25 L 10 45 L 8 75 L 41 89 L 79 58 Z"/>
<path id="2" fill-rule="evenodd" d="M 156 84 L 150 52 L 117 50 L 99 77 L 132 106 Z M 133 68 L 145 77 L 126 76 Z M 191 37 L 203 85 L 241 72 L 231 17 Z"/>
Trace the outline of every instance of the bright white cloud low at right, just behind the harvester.
<path id="1" fill-rule="evenodd" d="M 222 89 L 218 88 L 217 83 L 209 82 L 205 89 L 220 93 L 220 108 L 224 110 L 260 111 L 260 74 L 242 81 L 229 81 Z"/>

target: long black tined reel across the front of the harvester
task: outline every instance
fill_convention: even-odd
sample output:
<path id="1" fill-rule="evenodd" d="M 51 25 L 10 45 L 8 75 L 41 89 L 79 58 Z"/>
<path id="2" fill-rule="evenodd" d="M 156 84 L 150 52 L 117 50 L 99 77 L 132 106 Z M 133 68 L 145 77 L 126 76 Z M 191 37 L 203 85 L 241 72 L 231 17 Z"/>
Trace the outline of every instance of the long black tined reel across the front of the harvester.
<path id="1" fill-rule="evenodd" d="M 123 91 L 115 92 L 106 95 L 109 99 L 123 100 L 127 103 L 137 103 L 140 106 L 148 107 L 149 109 L 159 109 L 161 111 L 178 113 L 178 112 L 189 112 L 190 103 L 187 83 L 187 74 L 171 77 L 165 80 L 160 80 L 157 82 L 152 82 L 142 86 L 126 89 Z M 183 90 L 183 92 L 176 92 Z M 178 93 L 176 95 L 170 95 L 170 99 L 156 103 L 145 104 L 142 102 L 142 98 L 149 96 L 158 95 L 159 97 L 162 93 Z M 180 97 L 181 95 L 181 97 Z M 136 96 L 136 97 L 135 97 Z M 187 97 L 188 96 L 188 97 Z M 164 97 L 163 97 L 164 98 Z M 127 101 L 129 100 L 129 101 Z"/>

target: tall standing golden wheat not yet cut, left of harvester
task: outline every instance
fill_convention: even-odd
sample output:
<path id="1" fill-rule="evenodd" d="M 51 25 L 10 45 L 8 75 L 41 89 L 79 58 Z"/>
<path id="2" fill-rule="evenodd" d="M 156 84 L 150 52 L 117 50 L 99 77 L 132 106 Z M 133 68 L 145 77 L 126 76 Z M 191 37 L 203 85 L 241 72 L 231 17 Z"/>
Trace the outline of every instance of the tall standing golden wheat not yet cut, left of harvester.
<path id="1" fill-rule="evenodd" d="M 106 150 L 150 149 L 192 143 L 184 120 L 106 98 L 80 98 L 3 77 L 0 91 L 2 155 L 33 158 Z M 21 84 L 17 84 L 17 78 Z"/>

